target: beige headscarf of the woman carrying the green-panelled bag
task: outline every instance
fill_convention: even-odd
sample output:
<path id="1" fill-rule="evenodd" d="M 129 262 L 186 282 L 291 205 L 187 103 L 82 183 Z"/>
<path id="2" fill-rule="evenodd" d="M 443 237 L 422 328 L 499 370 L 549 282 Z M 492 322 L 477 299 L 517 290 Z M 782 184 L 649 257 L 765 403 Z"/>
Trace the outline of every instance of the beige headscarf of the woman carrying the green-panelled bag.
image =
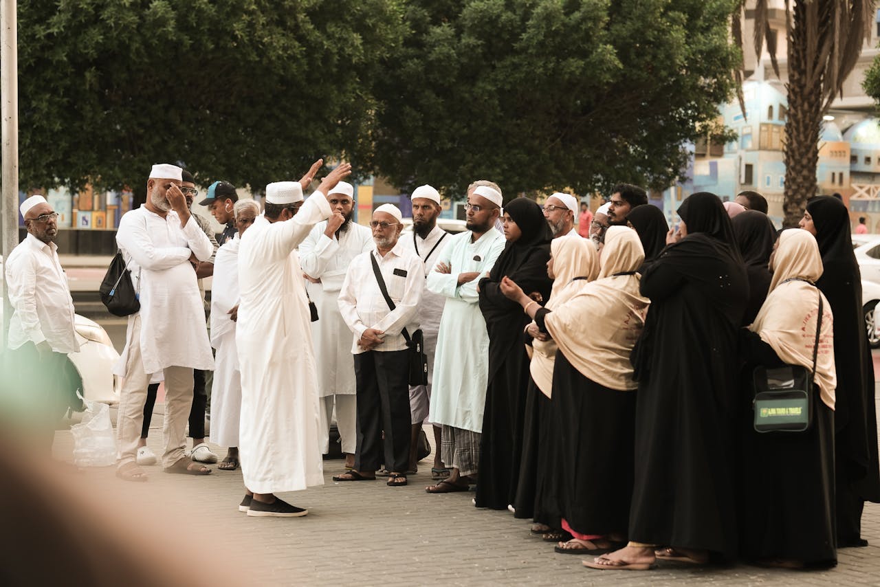
<path id="1" fill-rule="evenodd" d="M 834 371 L 831 305 L 817 287 L 808 283 L 816 282 L 823 271 L 816 238 L 800 229 L 782 231 L 770 263 L 774 272 L 770 293 L 749 330 L 758 333 L 785 363 L 812 369 L 819 296 L 822 296 L 822 329 L 814 381 L 819 386 L 819 397 L 834 409 L 837 373 Z M 786 281 L 792 278 L 807 282 Z"/>

